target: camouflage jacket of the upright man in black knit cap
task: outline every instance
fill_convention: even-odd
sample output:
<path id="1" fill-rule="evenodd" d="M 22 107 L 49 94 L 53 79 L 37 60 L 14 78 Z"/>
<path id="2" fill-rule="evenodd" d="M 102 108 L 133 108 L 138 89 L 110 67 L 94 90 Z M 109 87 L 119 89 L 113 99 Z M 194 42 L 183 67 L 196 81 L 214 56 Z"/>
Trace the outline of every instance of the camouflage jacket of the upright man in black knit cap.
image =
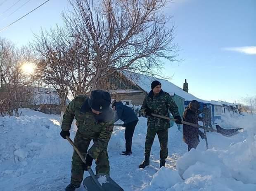
<path id="1" fill-rule="evenodd" d="M 154 95 L 153 91 L 150 91 L 145 96 L 141 111 L 145 112 L 146 108 L 151 109 L 152 113 L 162 116 L 169 116 L 169 109 L 173 116 L 180 116 L 178 107 L 171 98 L 171 95 L 162 90 L 157 95 Z M 164 130 L 170 128 L 170 121 L 159 117 L 149 116 L 147 126 L 148 128 L 154 128 L 156 130 Z"/>

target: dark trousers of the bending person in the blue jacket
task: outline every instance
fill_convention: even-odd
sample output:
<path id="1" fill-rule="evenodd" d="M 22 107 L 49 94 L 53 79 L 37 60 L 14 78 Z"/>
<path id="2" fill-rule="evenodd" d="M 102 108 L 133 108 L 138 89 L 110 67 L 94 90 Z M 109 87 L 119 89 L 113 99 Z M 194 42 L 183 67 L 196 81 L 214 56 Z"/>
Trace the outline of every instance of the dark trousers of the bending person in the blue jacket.
<path id="1" fill-rule="evenodd" d="M 124 138 L 126 140 L 126 152 L 132 152 L 132 141 L 135 126 L 138 121 L 133 121 L 126 124 L 126 130 L 124 132 Z"/>

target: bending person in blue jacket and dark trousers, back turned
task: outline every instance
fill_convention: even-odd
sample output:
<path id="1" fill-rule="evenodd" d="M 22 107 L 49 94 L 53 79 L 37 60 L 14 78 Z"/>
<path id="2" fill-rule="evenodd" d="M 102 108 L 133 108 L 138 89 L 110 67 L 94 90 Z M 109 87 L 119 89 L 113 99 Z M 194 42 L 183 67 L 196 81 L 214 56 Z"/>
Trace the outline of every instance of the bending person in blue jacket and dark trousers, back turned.
<path id="1" fill-rule="evenodd" d="M 121 119 L 126 127 L 124 132 L 124 138 L 126 140 L 126 150 L 123 151 L 122 155 L 132 154 L 132 141 L 135 126 L 137 125 L 138 118 L 130 107 L 123 105 L 122 102 L 114 102 L 112 105 L 114 111 L 116 111 L 115 122 Z"/>

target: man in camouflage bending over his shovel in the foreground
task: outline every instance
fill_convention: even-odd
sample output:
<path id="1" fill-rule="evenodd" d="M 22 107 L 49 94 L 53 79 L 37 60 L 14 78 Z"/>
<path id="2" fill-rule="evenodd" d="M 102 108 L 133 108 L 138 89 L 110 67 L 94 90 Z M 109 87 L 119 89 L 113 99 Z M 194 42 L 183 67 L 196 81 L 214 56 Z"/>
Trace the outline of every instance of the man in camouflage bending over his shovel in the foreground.
<path id="1" fill-rule="evenodd" d="M 93 159 L 96 163 L 96 174 L 109 174 L 109 157 L 107 145 L 111 137 L 114 125 L 114 112 L 109 108 L 111 97 L 108 92 L 94 90 L 90 97 L 78 95 L 66 108 L 63 115 L 62 131 L 60 135 L 66 139 L 73 119 L 76 119 L 77 131 L 74 144 L 83 156 L 83 163 L 77 152 L 73 151 L 71 167 L 71 183 L 66 186 L 66 191 L 74 191 L 80 187 L 83 180 L 83 172 L 92 165 Z M 89 144 L 93 145 L 87 151 Z"/>

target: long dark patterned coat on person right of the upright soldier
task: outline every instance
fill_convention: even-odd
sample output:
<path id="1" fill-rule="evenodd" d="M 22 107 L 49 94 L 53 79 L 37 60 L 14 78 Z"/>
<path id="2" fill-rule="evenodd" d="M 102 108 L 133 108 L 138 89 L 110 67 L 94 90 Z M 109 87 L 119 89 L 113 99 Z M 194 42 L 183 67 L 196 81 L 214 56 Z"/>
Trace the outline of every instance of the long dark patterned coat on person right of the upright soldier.
<path id="1" fill-rule="evenodd" d="M 190 123 L 194 123 L 198 125 L 198 114 L 197 112 L 193 112 L 189 107 L 185 109 L 183 113 L 183 121 L 187 121 Z M 187 144 L 199 142 L 199 134 L 201 134 L 201 130 L 196 127 L 192 127 L 189 125 L 183 124 L 183 140 Z"/>

